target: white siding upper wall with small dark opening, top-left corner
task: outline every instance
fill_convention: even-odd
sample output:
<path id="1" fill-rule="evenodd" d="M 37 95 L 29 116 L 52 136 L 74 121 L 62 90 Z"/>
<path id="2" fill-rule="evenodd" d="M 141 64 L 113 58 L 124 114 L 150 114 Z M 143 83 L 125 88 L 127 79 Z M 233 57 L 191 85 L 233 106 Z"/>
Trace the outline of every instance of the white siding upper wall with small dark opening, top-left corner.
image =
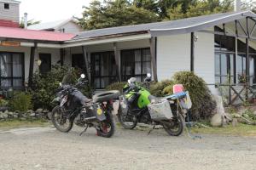
<path id="1" fill-rule="evenodd" d="M 20 8 L 19 4 L 9 3 L 9 9 L 4 8 L 4 3 L 0 2 L 0 19 L 2 20 L 13 20 L 20 22 Z"/>

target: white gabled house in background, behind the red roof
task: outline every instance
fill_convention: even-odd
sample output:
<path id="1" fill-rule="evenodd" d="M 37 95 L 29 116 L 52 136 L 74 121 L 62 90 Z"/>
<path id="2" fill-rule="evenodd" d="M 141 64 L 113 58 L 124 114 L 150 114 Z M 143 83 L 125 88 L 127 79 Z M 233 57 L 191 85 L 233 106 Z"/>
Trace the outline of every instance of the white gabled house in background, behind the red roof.
<path id="1" fill-rule="evenodd" d="M 27 29 L 41 31 L 57 31 L 66 33 L 77 33 L 79 31 L 82 31 L 82 28 L 78 25 L 77 20 L 75 20 L 74 18 L 39 23 L 36 25 L 28 26 Z"/>

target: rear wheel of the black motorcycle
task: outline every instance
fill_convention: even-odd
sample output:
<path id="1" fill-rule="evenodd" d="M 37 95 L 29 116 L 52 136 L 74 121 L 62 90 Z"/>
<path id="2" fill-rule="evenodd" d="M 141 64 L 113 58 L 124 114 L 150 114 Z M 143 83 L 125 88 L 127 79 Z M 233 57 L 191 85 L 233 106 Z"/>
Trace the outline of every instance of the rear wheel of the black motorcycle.
<path id="1" fill-rule="evenodd" d="M 97 128 L 97 134 L 104 138 L 110 138 L 114 133 L 113 116 L 110 111 L 106 114 L 107 119 L 100 122 Z"/>

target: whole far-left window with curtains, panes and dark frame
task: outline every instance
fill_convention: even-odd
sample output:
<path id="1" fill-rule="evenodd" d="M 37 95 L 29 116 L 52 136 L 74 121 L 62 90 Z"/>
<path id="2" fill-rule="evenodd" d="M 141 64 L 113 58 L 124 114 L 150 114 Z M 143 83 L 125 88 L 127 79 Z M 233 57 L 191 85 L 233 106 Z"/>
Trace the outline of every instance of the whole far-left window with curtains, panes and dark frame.
<path id="1" fill-rule="evenodd" d="M 23 88 L 24 54 L 0 53 L 0 83 L 1 88 Z"/>

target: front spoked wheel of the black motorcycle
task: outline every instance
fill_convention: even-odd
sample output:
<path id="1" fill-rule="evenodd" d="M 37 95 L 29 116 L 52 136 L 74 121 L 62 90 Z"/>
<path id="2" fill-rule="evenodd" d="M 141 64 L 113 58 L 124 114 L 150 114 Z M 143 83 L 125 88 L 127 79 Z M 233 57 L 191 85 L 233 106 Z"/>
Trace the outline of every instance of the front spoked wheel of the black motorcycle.
<path id="1" fill-rule="evenodd" d="M 61 111 L 61 106 L 56 106 L 52 110 L 51 121 L 62 133 L 69 132 L 73 127 L 73 120 L 70 120 L 67 118 L 67 116 L 64 116 L 63 112 Z"/>

